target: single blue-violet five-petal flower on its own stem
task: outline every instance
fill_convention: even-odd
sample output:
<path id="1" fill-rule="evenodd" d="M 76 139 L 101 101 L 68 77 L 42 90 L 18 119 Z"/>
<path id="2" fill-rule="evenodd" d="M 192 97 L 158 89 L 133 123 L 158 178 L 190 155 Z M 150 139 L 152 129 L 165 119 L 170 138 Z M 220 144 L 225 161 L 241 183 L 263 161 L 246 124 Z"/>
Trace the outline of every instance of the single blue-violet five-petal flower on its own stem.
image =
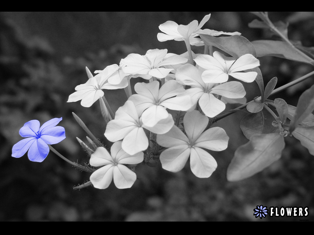
<path id="1" fill-rule="evenodd" d="M 38 120 L 31 120 L 24 124 L 19 130 L 22 139 L 14 144 L 12 148 L 12 157 L 20 158 L 27 150 L 28 158 L 33 162 L 42 162 L 49 153 L 48 144 L 57 144 L 65 139 L 65 130 L 63 127 L 56 125 L 62 118 L 53 118 L 44 123 L 41 128 Z"/>

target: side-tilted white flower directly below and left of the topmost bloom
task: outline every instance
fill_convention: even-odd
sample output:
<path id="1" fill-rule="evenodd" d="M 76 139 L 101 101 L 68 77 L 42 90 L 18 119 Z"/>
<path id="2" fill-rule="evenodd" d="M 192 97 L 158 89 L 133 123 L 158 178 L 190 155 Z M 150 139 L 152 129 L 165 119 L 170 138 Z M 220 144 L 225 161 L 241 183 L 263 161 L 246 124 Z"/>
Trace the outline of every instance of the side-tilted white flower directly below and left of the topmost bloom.
<path id="1" fill-rule="evenodd" d="M 173 70 L 164 68 L 165 65 L 177 65 L 187 62 L 187 59 L 180 55 L 166 56 L 167 51 L 167 49 L 148 50 L 144 56 L 130 54 L 121 60 L 122 70 L 126 74 L 138 75 L 144 79 L 152 77 L 165 78 Z"/>

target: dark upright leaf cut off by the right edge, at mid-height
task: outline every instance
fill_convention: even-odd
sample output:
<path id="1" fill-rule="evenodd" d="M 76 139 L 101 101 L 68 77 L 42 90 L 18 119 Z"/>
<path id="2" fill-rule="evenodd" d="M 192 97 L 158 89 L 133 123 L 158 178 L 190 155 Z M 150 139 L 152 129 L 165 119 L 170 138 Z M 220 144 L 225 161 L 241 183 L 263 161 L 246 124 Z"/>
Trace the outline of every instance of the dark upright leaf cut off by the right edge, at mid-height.
<path id="1" fill-rule="evenodd" d="M 290 133 L 314 110 L 314 85 L 304 91 L 299 98 L 295 110 L 295 116 L 290 123 Z"/>

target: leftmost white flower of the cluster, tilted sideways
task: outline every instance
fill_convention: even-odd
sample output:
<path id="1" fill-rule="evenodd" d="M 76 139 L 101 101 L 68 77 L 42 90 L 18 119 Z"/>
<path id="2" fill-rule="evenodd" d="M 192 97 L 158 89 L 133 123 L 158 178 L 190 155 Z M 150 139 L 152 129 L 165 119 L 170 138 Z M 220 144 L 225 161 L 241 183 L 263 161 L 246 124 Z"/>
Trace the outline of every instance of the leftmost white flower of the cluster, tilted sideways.
<path id="1" fill-rule="evenodd" d="M 118 65 L 109 65 L 104 70 L 97 70 L 99 72 L 96 76 L 89 78 L 89 80 L 81 85 L 75 87 L 76 92 L 69 96 L 68 102 L 81 101 L 83 107 L 90 107 L 100 97 L 104 96 L 102 89 L 115 90 L 127 87 L 127 77 L 125 77 L 119 84 L 110 84 L 108 78 L 119 70 Z"/>

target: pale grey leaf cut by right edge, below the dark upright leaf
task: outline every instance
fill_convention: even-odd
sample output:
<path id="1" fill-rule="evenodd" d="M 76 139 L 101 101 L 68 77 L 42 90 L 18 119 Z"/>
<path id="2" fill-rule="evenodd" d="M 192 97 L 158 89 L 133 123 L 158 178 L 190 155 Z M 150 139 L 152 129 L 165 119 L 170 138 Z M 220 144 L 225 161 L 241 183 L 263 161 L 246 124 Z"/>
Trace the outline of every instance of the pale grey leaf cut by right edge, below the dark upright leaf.
<path id="1" fill-rule="evenodd" d="M 306 147 L 310 154 L 314 156 L 314 126 L 298 126 L 292 132 L 292 135 L 300 140 L 302 146 Z"/>

